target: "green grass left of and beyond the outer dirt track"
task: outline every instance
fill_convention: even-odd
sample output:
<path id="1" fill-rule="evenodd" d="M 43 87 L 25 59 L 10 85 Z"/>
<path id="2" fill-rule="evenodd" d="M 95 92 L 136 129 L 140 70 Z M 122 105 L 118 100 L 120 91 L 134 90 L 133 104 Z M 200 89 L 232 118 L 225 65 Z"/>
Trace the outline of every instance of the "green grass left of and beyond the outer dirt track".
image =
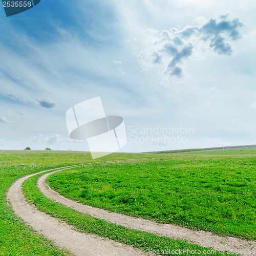
<path id="1" fill-rule="evenodd" d="M 144 157 L 154 156 L 119 153 L 100 161 Z M 0 151 L 0 255 L 69 255 L 17 218 L 7 204 L 6 193 L 16 179 L 25 175 L 86 162 L 96 162 L 88 152 Z"/>

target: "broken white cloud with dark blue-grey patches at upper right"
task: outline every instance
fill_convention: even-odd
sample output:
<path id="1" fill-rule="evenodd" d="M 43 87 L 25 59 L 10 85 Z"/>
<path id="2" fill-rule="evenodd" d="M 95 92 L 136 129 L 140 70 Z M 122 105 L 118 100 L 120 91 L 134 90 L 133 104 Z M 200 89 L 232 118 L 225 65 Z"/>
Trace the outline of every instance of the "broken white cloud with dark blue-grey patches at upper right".
<path id="1" fill-rule="evenodd" d="M 242 26 L 238 17 L 221 15 L 198 26 L 163 30 L 160 37 L 140 55 L 140 61 L 146 69 L 163 66 L 165 80 L 172 76 L 181 77 L 184 75 L 185 59 L 196 56 L 195 53 L 213 49 L 219 55 L 231 55 L 230 42 L 241 37 L 239 29 Z"/>

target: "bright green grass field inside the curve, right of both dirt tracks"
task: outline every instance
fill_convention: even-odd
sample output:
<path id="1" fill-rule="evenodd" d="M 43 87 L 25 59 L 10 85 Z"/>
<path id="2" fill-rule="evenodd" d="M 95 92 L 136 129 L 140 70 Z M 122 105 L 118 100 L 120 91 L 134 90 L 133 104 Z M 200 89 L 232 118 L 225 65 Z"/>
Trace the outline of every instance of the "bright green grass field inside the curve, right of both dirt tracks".
<path id="1" fill-rule="evenodd" d="M 83 204 L 255 240 L 255 175 L 255 148 L 232 148 L 77 167 L 47 182 Z"/>

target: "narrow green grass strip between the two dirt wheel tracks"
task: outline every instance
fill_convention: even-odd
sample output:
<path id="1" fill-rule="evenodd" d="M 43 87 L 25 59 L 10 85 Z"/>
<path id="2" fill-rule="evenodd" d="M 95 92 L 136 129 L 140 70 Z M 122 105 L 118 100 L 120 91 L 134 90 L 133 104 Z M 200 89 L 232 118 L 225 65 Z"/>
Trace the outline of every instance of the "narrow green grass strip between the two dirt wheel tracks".
<path id="1" fill-rule="evenodd" d="M 158 237 L 152 233 L 129 229 L 111 222 L 91 217 L 87 214 L 82 214 L 72 208 L 53 202 L 42 195 L 36 187 L 37 179 L 41 175 L 42 174 L 33 176 L 24 182 L 23 190 L 26 199 L 35 204 L 39 210 L 73 225 L 73 227 L 80 232 L 97 234 L 100 237 L 110 238 L 117 242 L 132 245 L 135 248 L 139 248 L 147 252 L 149 250 L 165 249 L 171 251 L 189 249 L 200 250 L 202 252 L 203 250 L 212 250 L 199 245 L 189 244 L 184 240 L 173 240 L 166 237 Z M 220 253 L 217 251 L 217 254 L 219 255 Z M 173 254 L 170 253 L 169 255 Z M 227 252 L 225 255 L 227 255 Z"/>

